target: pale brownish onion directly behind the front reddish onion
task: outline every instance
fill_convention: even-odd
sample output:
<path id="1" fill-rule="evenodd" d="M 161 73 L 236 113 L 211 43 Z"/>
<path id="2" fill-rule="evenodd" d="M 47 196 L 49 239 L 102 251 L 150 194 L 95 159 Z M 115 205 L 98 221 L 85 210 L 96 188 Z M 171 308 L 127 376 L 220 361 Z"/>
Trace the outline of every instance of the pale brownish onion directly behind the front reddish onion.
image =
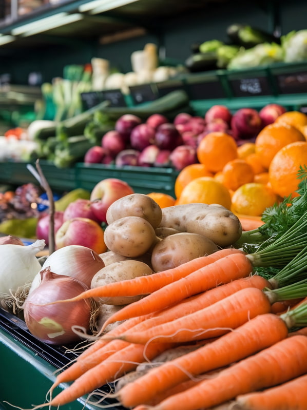
<path id="1" fill-rule="evenodd" d="M 82 245 L 67 245 L 55 250 L 45 260 L 43 266 L 36 271 L 32 281 L 29 295 L 41 283 L 41 272 L 47 267 L 57 275 L 71 276 L 79 279 L 90 287 L 92 277 L 102 269 L 105 264 L 99 254 Z M 38 272 L 38 273 L 37 273 Z"/>

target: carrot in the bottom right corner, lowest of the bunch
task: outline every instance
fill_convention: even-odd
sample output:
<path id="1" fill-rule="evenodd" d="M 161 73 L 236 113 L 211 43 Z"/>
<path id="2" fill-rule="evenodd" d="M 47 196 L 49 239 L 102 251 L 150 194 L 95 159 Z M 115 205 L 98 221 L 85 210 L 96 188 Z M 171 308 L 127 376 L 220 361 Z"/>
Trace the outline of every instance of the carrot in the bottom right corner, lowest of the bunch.
<path id="1" fill-rule="evenodd" d="M 263 392 L 240 395 L 235 403 L 238 410 L 306 410 L 307 375 L 267 388 Z"/>

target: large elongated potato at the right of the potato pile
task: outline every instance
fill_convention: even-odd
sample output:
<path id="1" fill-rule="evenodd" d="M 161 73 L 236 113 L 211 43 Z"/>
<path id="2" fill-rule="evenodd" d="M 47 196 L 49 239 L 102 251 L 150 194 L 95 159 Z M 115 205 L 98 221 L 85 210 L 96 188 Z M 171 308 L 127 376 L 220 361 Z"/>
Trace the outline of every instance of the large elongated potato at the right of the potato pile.
<path id="1" fill-rule="evenodd" d="M 159 227 L 204 235 L 220 247 L 234 244 L 242 235 L 239 218 L 219 204 L 183 204 L 162 208 Z"/>

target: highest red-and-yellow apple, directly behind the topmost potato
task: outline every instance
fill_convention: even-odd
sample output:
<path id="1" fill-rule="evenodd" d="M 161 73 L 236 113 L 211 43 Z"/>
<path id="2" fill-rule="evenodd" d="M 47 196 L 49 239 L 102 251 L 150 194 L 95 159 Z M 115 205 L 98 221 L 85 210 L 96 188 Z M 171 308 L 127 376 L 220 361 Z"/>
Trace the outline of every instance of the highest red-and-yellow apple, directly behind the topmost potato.
<path id="1" fill-rule="evenodd" d="M 100 223 L 107 222 L 107 209 L 114 201 L 131 193 L 135 193 L 131 186 L 118 178 L 106 178 L 98 182 L 91 191 L 90 201 L 93 213 Z"/>

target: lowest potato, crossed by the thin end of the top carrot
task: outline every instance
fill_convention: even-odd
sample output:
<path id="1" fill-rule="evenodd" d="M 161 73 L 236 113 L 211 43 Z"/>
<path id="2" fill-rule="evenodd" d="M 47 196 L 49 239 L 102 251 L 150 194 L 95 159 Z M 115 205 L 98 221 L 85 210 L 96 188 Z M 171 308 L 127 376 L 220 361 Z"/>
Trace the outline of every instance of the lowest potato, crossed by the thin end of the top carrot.
<path id="1" fill-rule="evenodd" d="M 91 288 L 151 274 L 152 269 L 144 262 L 134 260 L 118 261 L 100 269 L 97 274 L 93 276 Z M 98 303 L 105 303 L 106 305 L 127 305 L 128 303 L 141 299 L 142 296 L 143 295 L 129 297 L 117 296 L 112 298 L 94 299 Z"/>

